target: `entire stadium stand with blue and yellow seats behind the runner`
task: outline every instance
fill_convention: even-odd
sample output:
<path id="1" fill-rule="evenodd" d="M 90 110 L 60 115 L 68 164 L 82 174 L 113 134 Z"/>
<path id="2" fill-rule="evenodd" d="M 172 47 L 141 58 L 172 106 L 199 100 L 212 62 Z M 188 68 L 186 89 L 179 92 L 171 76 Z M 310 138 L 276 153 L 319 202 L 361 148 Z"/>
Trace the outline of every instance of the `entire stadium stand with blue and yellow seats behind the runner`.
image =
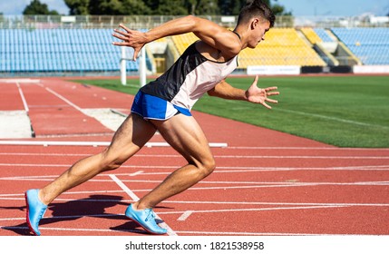
<path id="1" fill-rule="evenodd" d="M 112 16 L 109 22 L 102 23 L 105 18 L 77 16 L 75 23 L 66 23 L 57 16 L 4 16 L 0 19 L 0 74 L 118 74 L 121 49 L 112 45 L 112 29 L 119 23 L 127 24 L 132 17 L 120 20 L 120 17 Z M 133 29 L 150 29 L 152 25 L 166 22 L 165 18 L 168 19 L 137 16 L 129 25 L 133 25 Z M 270 29 L 266 40 L 256 49 L 245 49 L 239 54 L 237 73 L 252 65 L 297 65 L 306 70 L 316 67 L 327 70 L 333 66 L 346 66 L 351 70 L 354 65 L 389 65 L 387 26 L 367 28 L 364 23 L 364 27 L 331 28 L 341 24 L 339 20 L 331 24 L 327 21 L 316 24 L 309 20 L 307 24 L 293 26 L 296 25 L 293 19 L 287 19 L 287 23 L 282 20 Z M 161 73 L 169 68 L 196 40 L 194 34 L 182 34 L 161 39 L 152 47 L 148 44 L 149 73 Z M 157 65 L 160 68 L 156 68 Z M 139 73 L 139 63 L 127 61 L 127 71 Z"/>

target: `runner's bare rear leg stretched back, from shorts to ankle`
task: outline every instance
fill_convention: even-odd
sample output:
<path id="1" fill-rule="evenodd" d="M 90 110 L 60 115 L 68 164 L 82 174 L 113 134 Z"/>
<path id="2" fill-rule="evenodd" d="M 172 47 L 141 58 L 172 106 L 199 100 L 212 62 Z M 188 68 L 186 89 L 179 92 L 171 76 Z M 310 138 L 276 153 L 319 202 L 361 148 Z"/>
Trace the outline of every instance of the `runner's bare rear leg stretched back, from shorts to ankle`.
<path id="1" fill-rule="evenodd" d="M 63 191 L 92 179 L 102 171 L 119 168 L 124 161 L 139 151 L 155 132 L 151 122 L 132 113 L 115 133 L 107 149 L 73 164 L 70 169 L 64 171 L 61 176 L 40 191 L 40 200 L 44 204 L 49 204 Z"/>

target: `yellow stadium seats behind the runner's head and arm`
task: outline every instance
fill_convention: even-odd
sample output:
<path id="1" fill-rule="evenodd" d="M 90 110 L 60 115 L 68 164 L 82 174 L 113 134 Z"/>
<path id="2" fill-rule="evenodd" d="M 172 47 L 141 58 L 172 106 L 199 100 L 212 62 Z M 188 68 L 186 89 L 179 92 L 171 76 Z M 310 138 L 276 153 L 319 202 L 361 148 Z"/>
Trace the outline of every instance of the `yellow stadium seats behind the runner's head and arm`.
<path id="1" fill-rule="evenodd" d="M 197 40 L 191 33 L 172 38 L 180 54 Z M 249 65 L 326 65 L 293 28 L 272 28 L 265 38 L 256 49 L 247 48 L 239 54 L 238 68 L 246 69 Z"/>

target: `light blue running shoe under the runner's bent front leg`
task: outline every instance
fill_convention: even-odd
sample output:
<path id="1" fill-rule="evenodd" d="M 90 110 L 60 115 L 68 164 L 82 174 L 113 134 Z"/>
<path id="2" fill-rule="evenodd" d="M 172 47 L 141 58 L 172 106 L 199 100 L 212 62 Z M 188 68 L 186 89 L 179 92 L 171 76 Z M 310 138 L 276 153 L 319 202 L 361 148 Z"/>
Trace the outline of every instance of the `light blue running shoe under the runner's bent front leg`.
<path id="1" fill-rule="evenodd" d="M 151 234 L 163 235 L 168 230 L 160 228 L 155 222 L 155 213 L 151 209 L 145 210 L 133 210 L 132 204 L 128 206 L 125 215 L 130 220 L 138 223 L 143 229 L 150 232 Z"/>

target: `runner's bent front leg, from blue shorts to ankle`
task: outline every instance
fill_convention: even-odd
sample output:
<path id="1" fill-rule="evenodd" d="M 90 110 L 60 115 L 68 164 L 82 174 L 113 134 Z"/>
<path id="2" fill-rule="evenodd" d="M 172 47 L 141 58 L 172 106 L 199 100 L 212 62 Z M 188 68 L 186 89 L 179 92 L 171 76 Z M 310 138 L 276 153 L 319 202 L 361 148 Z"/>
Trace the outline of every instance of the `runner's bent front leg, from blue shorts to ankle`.
<path id="1" fill-rule="evenodd" d="M 152 121 L 171 147 L 188 161 L 174 171 L 154 190 L 133 204 L 135 210 L 155 207 L 165 200 L 204 179 L 215 168 L 207 138 L 192 116 L 177 114 L 167 121 Z"/>

